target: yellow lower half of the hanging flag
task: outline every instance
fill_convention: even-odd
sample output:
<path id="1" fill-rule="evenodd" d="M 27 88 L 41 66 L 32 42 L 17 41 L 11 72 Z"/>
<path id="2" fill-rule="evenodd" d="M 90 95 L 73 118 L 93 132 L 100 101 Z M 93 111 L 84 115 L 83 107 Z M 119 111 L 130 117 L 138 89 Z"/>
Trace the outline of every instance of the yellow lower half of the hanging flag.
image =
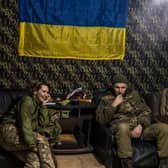
<path id="1" fill-rule="evenodd" d="M 126 28 L 20 23 L 19 56 L 123 60 Z"/>

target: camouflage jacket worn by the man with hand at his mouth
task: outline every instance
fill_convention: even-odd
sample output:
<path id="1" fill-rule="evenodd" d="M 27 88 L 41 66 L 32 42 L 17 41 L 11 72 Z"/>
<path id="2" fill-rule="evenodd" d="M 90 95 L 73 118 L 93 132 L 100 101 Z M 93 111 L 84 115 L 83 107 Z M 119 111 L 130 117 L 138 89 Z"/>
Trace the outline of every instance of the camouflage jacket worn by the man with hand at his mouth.
<path id="1" fill-rule="evenodd" d="M 146 127 L 151 123 L 151 110 L 136 91 L 127 93 L 124 101 L 112 107 L 115 95 L 112 93 L 101 98 L 96 109 L 96 120 L 101 124 L 129 122 L 134 128 L 138 124 Z"/>

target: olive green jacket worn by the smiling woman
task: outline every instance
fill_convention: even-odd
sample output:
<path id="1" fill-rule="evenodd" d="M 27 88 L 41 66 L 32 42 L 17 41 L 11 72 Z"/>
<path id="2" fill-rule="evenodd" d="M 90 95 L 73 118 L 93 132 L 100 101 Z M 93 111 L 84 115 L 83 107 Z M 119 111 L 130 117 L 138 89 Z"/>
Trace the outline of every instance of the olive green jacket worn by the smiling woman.
<path id="1" fill-rule="evenodd" d="M 14 124 L 28 146 L 36 145 L 33 131 L 43 133 L 49 124 L 46 106 L 34 97 L 23 97 L 3 118 L 2 124 Z"/>

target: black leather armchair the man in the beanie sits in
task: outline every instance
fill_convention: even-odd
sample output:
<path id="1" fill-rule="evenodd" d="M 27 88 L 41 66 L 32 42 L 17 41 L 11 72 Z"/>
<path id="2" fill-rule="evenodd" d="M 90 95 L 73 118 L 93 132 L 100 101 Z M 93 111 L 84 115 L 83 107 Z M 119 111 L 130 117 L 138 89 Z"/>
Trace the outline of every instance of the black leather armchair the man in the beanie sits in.
<path id="1" fill-rule="evenodd" d="M 101 91 L 102 92 L 102 91 Z M 100 95 L 108 94 L 108 90 L 103 90 Z M 97 96 L 100 99 L 100 96 Z M 160 94 L 148 93 L 144 95 L 147 105 L 151 108 L 152 114 L 157 115 L 160 109 Z M 96 103 L 98 103 L 97 100 Z M 91 142 L 94 146 L 94 152 L 98 160 L 106 168 L 120 168 L 120 159 L 116 154 L 115 138 L 113 130 L 108 125 L 100 125 L 98 122 L 93 123 Z M 133 164 L 135 168 L 157 168 L 158 156 L 155 141 L 133 140 Z"/>

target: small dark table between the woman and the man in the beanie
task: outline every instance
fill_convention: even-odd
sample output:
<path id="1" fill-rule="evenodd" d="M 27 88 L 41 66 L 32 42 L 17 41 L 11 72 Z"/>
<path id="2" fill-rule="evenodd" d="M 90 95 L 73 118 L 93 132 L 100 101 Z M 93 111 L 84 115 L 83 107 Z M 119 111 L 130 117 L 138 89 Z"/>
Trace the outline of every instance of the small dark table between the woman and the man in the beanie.
<path id="1" fill-rule="evenodd" d="M 91 135 L 91 123 L 94 119 L 94 113 L 96 105 L 92 103 L 80 103 L 60 105 L 56 103 L 48 103 L 48 108 L 60 110 L 59 122 L 62 127 L 68 125 L 68 128 L 74 133 L 75 127 L 78 127 L 81 133 L 84 135 L 84 144 L 79 142 L 79 146 L 75 148 L 64 148 L 63 146 L 53 149 L 54 153 L 84 153 L 93 151 L 93 147 L 90 144 Z M 64 113 L 69 113 L 65 115 Z M 64 115 L 63 115 L 64 114 Z M 66 130 L 63 129 L 63 134 Z"/>

